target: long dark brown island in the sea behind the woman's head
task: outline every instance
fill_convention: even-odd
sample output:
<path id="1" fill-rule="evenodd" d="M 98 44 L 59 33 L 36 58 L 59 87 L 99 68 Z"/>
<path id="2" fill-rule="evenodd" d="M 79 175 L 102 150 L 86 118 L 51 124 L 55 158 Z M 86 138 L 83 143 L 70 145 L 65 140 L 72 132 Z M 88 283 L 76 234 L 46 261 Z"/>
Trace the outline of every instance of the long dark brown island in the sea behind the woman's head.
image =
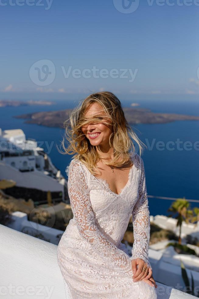
<path id="1" fill-rule="evenodd" d="M 64 127 L 64 122 L 69 121 L 72 109 L 27 113 L 13 116 L 26 119 L 26 124 L 39 124 L 47 127 Z M 176 114 L 176 113 L 154 113 L 145 108 L 123 108 L 126 120 L 129 124 L 163 124 L 172 121 L 199 121 L 199 116 Z"/>

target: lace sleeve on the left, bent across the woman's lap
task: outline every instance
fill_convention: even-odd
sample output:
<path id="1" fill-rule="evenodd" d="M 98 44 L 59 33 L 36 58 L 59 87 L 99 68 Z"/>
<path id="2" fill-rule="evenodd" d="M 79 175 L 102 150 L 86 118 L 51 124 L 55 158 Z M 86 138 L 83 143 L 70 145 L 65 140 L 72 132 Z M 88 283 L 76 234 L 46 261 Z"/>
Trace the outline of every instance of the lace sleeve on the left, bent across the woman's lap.
<path id="1" fill-rule="evenodd" d="M 100 232 L 90 203 L 89 189 L 84 169 L 78 161 L 72 160 L 67 169 L 68 195 L 79 233 L 104 261 L 111 261 L 115 267 L 129 265 L 129 257 Z"/>

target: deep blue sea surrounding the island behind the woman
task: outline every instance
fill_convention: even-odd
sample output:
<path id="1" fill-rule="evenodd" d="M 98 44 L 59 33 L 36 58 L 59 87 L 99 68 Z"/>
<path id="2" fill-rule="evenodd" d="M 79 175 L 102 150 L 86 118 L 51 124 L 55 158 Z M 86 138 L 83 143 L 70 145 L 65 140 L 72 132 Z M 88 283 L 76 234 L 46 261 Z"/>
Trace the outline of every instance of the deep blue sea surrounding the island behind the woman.
<path id="1" fill-rule="evenodd" d="M 55 166 L 67 178 L 65 168 L 72 156 L 58 152 L 64 129 L 25 124 L 13 116 L 39 111 L 73 108 L 73 101 L 55 101 L 51 106 L 20 106 L 0 108 L 0 128 L 21 128 L 26 138 L 36 139 L 38 146 L 51 157 Z M 132 102 L 121 101 L 123 107 Z M 179 113 L 199 116 L 199 102 L 139 101 L 139 107 L 156 113 Z M 199 200 L 199 121 L 175 121 L 166 124 L 137 124 L 132 127 L 145 143 L 142 159 L 145 165 L 148 195 Z M 48 145 L 48 147 L 47 147 Z M 194 147 L 195 145 L 195 147 Z M 49 149 L 49 146 L 52 148 Z M 137 149 L 137 147 L 136 147 Z M 137 149 L 138 152 L 138 149 Z M 139 152 L 138 152 L 139 153 Z M 150 215 L 168 215 L 172 200 L 148 197 Z M 199 203 L 190 202 L 190 208 Z"/>

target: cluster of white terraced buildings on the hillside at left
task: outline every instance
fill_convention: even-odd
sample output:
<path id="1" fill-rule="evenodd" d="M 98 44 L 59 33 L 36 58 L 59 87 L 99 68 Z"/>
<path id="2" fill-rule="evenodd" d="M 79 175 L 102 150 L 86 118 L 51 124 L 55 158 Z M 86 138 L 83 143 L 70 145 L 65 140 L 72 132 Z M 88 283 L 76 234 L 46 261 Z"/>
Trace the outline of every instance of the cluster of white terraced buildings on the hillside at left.
<path id="1" fill-rule="evenodd" d="M 44 149 L 37 146 L 37 141 L 26 140 L 21 129 L 2 131 L 0 128 L 0 180 L 2 179 L 15 181 L 16 186 L 21 188 L 21 198 L 25 198 L 23 195 L 26 192 L 34 197 L 37 192 L 32 189 L 51 191 L 55 201 L 65 201 L 68 197 L 67 180 Z"/>

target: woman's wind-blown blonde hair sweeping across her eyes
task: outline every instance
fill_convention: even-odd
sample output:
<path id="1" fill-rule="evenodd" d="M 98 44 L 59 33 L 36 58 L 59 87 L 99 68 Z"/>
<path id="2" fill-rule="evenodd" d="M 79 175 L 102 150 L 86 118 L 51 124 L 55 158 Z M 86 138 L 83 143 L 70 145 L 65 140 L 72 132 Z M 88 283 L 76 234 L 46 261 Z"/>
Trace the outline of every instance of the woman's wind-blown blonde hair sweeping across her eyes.
<path id="1" fill-rule="evenodd" d="M 103 112 L 103 118 L 107 119 L 103 120 L 103 124 L 112 127 L 109 144 L 110 147 L 113 148 L 114 159 L 110 162 L 106 161 L 104 164 L 112 165 L 113 167 L 121 166 L 129 160 L 131 152 L 135 152 L 133 140 L 138 143 L 140 155 L 143 150 L 141 144 L 144 146 L 145 144 L 141 142 L 128 125 L 120 100 L 113 93 L 97 92 L 89 95 L 79 103 L 79 106 L 72 110 L 69 119 L 64 121 L 65 137 L 61 142 L 61 146 L 64 149 L 64 154 L 75 154 L 74 159 L 80 160 L 93 175 L 96 175 L 95 169 L 98 170 L 96 163 L 100 159 L 96 147 L 99 152 L 102 151 L 100 150 L 100 145 L 93 146 L 90 144 L 86 138 L 86 134 L 84 134 L 81 129 L 82 126 L 90 122 L 102 123 L 102 120 L 99 119 L 99 115 L 93 117 L 85 116 L 87 109 L 93 103 L 98 103 L 102 107 L 100 111 Z M 67 148 L 64 145 L 65 140 L 69 143 Z M 120 157 L 122 157 L 122 159 L 119 162 L 118 159 Z"/>

